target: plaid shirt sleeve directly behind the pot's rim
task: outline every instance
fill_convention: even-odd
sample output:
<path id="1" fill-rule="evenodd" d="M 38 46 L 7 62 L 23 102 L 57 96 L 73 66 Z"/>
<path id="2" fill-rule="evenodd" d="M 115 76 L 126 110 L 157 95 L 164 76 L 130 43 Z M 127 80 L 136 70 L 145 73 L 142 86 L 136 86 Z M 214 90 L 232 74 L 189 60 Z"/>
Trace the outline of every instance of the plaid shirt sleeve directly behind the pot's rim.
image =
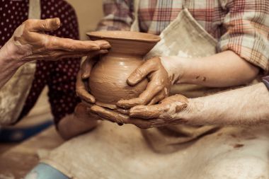
<path id="1" fill-rule="evenodd" d="M 132 0 L 103 0 L 105 17 L 97 30 L 130 30 L 133 17 Z"/>

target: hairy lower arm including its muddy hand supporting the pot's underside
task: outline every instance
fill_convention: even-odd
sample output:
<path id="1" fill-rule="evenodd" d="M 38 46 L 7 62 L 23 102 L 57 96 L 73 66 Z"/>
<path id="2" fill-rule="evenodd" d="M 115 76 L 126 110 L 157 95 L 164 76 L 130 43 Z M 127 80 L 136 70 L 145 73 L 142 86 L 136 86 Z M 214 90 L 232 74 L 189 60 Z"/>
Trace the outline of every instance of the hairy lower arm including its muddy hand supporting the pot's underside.
<path id="1" fill-rule="evenodd" d="M 137 105 L 130 117 L 118 118 L 142 128 L 166 125 L 262 125 L 269 122 L 269 92 L 263 83 L 200 98 L 175 95 L 156 105 Z M 115 112 L 92 108 L 102 117 L 117 117 Z M 118 119 L 116 119 L 118 120 Z"/>

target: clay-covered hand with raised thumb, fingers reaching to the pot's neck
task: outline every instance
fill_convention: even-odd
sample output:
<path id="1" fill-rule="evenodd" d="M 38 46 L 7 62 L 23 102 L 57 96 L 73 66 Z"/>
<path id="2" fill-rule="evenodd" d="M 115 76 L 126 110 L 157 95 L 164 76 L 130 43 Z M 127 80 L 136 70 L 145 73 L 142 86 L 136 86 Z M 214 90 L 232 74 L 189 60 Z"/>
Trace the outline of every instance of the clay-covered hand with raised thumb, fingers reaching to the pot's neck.
<path id="1" fill-rule="evenodd" d="M 56 60 L 66 57 L 93 56 L 110 48 L 108 42 L 103 40 L 80 41 L 45 34 L 59 27 L 59 18 L 25 21 L 6 42 L 8 55 L 13 59 L 28 62 L 36 59 Z"/>

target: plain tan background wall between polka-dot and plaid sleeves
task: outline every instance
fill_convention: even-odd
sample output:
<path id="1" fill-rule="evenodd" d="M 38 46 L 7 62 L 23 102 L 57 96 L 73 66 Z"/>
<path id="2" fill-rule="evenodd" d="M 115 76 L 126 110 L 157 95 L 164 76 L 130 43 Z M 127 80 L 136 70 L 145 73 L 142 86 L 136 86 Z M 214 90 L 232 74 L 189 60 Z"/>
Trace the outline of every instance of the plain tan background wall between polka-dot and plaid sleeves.
<path id="1" fill-rule="evenodd" d="M 81 40 L 87 40 L 86 32 L 93 31 L 103 17 L 102 0 L 66 0 L 76 10 Z"/>

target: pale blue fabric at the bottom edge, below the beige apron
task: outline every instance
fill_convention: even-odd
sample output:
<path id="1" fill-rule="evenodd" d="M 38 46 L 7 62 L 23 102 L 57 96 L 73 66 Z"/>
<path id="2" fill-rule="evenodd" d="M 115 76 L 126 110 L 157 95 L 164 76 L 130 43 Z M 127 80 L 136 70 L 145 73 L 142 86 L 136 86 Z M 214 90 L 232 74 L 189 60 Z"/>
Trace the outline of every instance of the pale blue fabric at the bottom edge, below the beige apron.
<path id="1" fill-rule="evenodd" d="M 39 163 L 38 166 L 35 166 L 28 175 L 25 176 L 25 179 L 69 179 L 66 175 L 57 171 L 57 169 L 49 166 L 45 163 Z"/>

